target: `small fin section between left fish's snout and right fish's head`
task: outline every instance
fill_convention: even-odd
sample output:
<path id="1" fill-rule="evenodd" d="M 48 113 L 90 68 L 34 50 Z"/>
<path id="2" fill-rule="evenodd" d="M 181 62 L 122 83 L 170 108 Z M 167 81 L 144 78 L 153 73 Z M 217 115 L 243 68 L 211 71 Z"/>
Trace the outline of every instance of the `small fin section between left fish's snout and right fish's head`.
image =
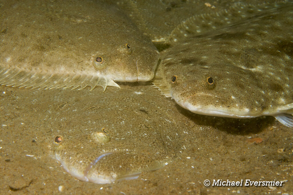
<path id="1" fill-rule="evenodd" d="M 154 84 L 153 86 L 158 88 L 163 95 L 166 97 L 172 97 L 171 84 L 167 83 L 166 79 L 164 78 L 163 68 L 164 66 L 162 63 L 159 63 L 152 83 Z"/>

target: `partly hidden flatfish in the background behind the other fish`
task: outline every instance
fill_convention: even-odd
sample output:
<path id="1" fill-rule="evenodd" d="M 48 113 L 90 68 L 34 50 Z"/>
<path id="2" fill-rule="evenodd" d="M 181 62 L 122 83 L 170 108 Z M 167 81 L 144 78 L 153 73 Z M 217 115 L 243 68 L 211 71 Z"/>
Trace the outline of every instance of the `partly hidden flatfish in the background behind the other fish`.
<path id="1" fill-rule="evenodd" d="M 231 25 L 271 6 L 260 1 L 254 4 L 245 1 L 209 4 L 200 0 L 120 0 L 117 4 L 157 44 L 174 44 L 186 37 Z"/>

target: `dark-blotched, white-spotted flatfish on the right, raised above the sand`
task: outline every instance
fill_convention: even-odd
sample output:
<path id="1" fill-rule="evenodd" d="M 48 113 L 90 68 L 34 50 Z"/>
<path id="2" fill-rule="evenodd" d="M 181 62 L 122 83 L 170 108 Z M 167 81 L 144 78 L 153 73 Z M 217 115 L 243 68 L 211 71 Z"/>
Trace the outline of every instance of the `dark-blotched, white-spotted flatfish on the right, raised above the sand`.
<path id="1" fill-rule="evenodd" d="M 163 52 L 154 84 L 194 113 L 272 115 L 293 127 L 293 6 L 277 6 Z"/>

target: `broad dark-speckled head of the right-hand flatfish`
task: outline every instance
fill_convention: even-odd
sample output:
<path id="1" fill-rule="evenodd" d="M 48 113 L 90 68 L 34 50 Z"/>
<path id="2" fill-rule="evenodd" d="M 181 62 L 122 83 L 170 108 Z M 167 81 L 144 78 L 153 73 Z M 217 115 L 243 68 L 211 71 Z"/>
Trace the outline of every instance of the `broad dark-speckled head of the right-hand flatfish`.
<path id="1" fill-rule="evenodd" d="M 231 118 L 261 115 L 265 92 L 259 90 L 260 83 L 250 72 L 233 65 L 198 66 L 188 75 L 170 77 L 171 96 L 197 114 Z"/>

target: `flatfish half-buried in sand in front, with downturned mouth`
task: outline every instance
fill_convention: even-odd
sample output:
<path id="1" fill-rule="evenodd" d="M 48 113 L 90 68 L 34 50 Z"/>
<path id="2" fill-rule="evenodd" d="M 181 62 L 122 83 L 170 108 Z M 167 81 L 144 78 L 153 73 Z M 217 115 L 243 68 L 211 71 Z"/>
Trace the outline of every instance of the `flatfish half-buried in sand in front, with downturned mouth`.
<path id="1" fill-rule="evenodd" d="M 49 127 L 54 132 L 52 150 L 62 167 L 79 180 L 110 183 L 170 163 L 183 147 L 188 128 L 175 103 L 150 85 L 108 90 L 111 93 L 76 92 L 71 98 L 54 90 L 48 98 L 46 122 L 58 113 L 60 122 L 68 124 Z M 94 98 L 88 101 L 89 96 Z"/>

